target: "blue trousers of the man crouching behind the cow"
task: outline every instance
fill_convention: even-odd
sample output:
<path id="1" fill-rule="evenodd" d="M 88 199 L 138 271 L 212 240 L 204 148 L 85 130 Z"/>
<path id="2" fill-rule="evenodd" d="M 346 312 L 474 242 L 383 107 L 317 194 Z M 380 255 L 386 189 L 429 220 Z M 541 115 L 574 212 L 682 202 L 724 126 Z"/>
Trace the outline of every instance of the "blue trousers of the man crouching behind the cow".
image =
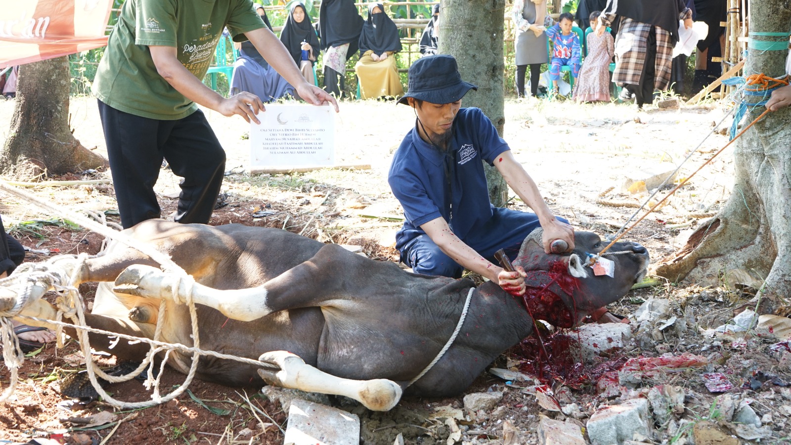
<path id="1" fill-rule="evenodd" d="M 467 234 L 462 241 L 494 264 L 498 264 L 494 253 L 499 249 L 504 249 L 513 261 L 519 254 L 524 238 L 540 226 L 539 218 L 535 213 L 501 207 L 494 207 L 493 211 L 494 215 L 481 229 Z M 558 218 L 558 221 L 568 223 L 563 218 Z M 401 261 L 411 267 L 414 273 L 422 275 L 461 278 L 464 272 L 464 268 L 445 255 L 427 234 L 419 235 L 403 246 Z"/>

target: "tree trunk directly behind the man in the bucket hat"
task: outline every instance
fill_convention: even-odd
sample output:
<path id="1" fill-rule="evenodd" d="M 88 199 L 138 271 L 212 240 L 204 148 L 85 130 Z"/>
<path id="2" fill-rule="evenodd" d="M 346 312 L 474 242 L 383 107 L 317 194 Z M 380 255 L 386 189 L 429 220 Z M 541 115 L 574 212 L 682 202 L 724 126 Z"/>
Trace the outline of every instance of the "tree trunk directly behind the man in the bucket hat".
<path id="1" fill-rule="evenodd" d="M 505 0 L 443 0 L 440 10 L 439 52 L 459 63 L 461 78 L 478 86 L 462 105 L 478 107 L 502 135 L 505 125 L 505 63 L 502 56 Z M 508 185 L 486 162 L 489 197 L 498 207 L 508 199 Z"/>

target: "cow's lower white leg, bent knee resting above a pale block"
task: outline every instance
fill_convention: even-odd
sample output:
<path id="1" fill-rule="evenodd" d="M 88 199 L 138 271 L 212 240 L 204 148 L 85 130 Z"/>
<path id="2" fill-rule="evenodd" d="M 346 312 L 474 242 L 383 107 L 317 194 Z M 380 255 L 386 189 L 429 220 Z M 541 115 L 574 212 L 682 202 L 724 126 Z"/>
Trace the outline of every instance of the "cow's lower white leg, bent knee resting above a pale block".
<path id="1" fill-rule="evenodd" d="M 259 360 L 280 368 L 280 371 L 258 370 L 261 378 L 271 385 L 350 397 L 372 411 L 389 411 L 401 400 L 401 386 L 385 378 L 351 380 L 335 377 L 286 351 L 267 352 Z"/>

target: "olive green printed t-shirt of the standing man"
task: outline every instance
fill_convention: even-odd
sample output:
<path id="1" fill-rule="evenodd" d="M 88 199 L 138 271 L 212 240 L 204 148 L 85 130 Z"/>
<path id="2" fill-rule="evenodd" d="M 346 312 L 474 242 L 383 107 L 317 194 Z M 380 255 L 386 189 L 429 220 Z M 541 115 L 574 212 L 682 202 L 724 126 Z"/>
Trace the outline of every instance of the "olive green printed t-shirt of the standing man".
<path id="1" fill-rule="evenodd" d="M 99 63 L 93 94 L 112 108 L 136 116 L 176 120 L 198 109 L 157 73 L 149 46 L 176 48 L 202 79 L 223 29 L 233 40 L 263 28 L 252 0 L 127 0 Z"/>

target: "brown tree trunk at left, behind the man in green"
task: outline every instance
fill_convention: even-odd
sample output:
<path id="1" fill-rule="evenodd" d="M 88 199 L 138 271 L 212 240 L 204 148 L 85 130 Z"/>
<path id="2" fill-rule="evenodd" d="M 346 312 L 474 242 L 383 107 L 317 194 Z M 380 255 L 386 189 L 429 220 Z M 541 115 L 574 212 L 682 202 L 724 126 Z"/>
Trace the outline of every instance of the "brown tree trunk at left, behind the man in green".
<path id="1" fill-rule="evenodd" d="M 9 138 L 0 152 L 0 173 L 35 177 L 106 167 L 99 154 L 81 146 L 69 129 L 69 59 L 19 67 L 17 105 Z M 98 123 L 97 123 L 98 125 Z"/>

